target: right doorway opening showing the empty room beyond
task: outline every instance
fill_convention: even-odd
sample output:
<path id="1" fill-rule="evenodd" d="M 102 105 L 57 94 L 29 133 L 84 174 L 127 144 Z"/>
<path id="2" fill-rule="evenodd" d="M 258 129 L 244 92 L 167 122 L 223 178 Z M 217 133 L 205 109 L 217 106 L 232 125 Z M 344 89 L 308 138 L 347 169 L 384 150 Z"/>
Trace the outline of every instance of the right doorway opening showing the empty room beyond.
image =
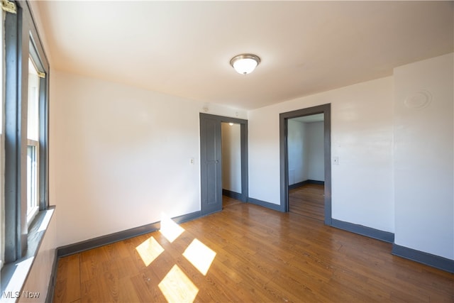
<path id="1" fill-rule="evenodd" d="M 287 121 L 289 212 L 320 221 L 325 219 L 323 116 Z"/>

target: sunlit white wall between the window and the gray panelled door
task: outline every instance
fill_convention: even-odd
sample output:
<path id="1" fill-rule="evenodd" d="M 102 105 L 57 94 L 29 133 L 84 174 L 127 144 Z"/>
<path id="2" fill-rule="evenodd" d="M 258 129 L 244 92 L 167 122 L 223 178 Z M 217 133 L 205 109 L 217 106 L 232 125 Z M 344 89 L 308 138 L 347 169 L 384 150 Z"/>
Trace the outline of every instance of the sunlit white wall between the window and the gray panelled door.
<path id="1" fill-rule="evenodd" d="M 51 81 L 57 246 L 199 211 L 199 112 L 246 117 L 64 72 Z"/>

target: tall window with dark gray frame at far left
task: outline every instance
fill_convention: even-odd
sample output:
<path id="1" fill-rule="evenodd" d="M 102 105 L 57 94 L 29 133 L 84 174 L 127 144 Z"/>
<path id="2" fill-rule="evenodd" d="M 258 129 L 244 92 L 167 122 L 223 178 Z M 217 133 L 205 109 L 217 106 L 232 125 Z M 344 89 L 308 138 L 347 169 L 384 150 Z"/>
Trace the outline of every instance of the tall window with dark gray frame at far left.
<path id="1" fill-rule="evenodd" d="M 3 1 L 2 1 L 3 4 Z M 28 251 L 28 231 L 35 216 L 48 208 L 49 65 L 27 1 L 3 12 L 4 39 L 4 269 Z M 41 213 L 43 214 L 43 213 Z M 1 218 L 1 216 L 0 216 Z M 31 247 L 35 247 L 32 245 Z M 35 248 L 33 248 L 35 249 Z M 2 276 L 4 271 L 1 272 Z M 2 288 L 3 289 L 3 288 Z"/>

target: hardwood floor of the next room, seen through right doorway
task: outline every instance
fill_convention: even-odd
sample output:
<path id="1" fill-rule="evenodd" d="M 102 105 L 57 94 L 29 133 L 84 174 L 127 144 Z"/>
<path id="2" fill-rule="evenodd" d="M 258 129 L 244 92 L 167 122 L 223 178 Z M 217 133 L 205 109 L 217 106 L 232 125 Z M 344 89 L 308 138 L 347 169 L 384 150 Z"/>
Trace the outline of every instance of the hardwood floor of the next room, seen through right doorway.
<path id="1" fill-rule="evenodd" d="M 289 211 L 323 221 L 325 219 L 323 185 L 304 184 L 289 190 Z"/>

